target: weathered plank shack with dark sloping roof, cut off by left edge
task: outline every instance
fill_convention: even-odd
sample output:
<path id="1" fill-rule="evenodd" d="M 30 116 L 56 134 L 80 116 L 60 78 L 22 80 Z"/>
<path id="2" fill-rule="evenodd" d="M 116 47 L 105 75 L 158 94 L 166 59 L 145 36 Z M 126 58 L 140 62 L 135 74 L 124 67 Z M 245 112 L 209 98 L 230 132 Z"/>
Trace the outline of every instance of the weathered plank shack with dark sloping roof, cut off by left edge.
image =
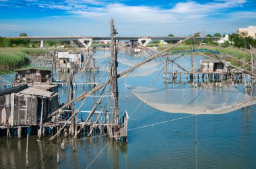
<path id="1" fill-rule="evenodd" d="M 22 84 L 0 91 L 0 126 L 7 126 L 11 121 L 14 94 L 27 88 L 27 84 Z"/>

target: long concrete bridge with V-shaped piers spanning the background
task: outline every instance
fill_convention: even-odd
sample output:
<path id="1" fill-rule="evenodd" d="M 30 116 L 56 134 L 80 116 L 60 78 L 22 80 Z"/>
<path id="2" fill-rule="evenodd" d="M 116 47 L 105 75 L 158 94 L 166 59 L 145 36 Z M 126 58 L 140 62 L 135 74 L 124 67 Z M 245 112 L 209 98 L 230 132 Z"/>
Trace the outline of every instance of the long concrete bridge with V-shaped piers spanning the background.
<path id="1" fill-rule="evenodd" d="M 29 39 L 31 41 L 41 42 L 40 47 L 44 46 L 44 41 L 74 41 L 79 42 L 85 48 L 90 48 L 90 45 L 93 41 L 101 41 L 101 40 L 111 40 L 111 37 L 84 37 L 84 36 L 26 36 L 26 37 L 11 37 L 11 38 L 20 38 L 20 39 Z M 141 46 L 147 46 L 151 41 L 154 40 L 169 40 L 169 41 L 180 41 L 184 40 L 187 37 L 184 36 L 145 36 L 145 37 L 116 37 L 118 41 L 133 41 L 138 42 Z M 195 40 L 220 40 L 218 37 L 195 37 Z"/>

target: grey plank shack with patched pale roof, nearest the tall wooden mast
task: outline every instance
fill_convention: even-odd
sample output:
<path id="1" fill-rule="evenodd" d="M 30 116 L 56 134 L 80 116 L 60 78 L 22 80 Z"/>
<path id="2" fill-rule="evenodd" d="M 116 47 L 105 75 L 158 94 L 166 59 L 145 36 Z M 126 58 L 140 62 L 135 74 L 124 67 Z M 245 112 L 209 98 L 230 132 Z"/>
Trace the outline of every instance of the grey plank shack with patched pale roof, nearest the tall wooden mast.
<path id="1" fill-rule="evenodd" d="M 31 99 L 30 99 L 31 98 Z M 36 125 L 42 118 L 59 108 L 56 85 L 34 85 L 15 96 L 13 125 Z M 24 107 L 19 109 L 19 107 Z M 18 117 L 24 117 L 23 120 Z"/>

